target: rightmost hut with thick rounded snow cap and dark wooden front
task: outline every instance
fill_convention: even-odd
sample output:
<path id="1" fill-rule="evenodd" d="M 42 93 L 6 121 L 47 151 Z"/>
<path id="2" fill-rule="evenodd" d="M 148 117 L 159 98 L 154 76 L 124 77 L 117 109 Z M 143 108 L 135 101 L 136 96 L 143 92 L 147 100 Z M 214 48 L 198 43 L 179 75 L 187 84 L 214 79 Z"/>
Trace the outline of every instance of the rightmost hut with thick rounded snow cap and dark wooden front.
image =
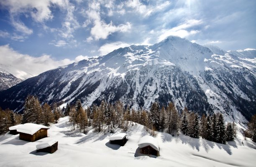
<path id="1" fill-rule="evenodd" d="M 159 156 L 158 141 L 152 136 L 141 137 L 138 143 L 141 154 Z"/>

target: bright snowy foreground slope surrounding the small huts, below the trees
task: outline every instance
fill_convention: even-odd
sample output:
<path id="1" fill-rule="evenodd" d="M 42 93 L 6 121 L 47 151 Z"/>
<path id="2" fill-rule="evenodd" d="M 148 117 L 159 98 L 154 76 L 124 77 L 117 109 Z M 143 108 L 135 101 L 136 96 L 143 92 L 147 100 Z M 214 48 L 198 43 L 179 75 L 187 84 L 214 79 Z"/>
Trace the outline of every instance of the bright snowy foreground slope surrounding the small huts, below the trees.
<path id="1" fill-rule="evenodd" d="M 254 167 L 256 143 L 243 140 L 241 134 L 227 145 L 195 139 L 188 136 L 156 132 L 160 156 L 141 155 L 138 142 L 149 135 L 142 125 L 128 128 L 128 141 L 123 147 L 112 145 L 112 134 L 87 135 L 71 130 L 68 117 L 51 125 L 48 137 L 36 142 L 19 140 L 18 135 L 0 136 L 0 166 L 3 167 Z M 117 129 L 116 132 L 122 132 Z M 36 152 L 36 145 L 44 141 L 58 141 L 58 150 L 53 154 Z M 243 142 L 243 143 L 242 143 Z"/>

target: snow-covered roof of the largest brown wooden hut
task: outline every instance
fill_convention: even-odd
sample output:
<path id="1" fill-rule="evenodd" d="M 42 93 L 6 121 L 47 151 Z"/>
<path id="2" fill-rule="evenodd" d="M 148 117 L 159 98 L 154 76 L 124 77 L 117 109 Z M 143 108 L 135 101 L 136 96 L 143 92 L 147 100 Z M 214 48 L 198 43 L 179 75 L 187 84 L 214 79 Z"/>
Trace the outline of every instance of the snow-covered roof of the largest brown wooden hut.
<path id="1" fill-rule="evenodd" d="M 38 124 L 33 124 L 33 123 L 26 123 L 26 124 L 23 124 L 23 125 L 17 127 L 17 132 L 33 135 L 34 133 L 36 133 L 38 130 L 40 130 L 42 128 L 50 129 L 49 127 L 46 127 L 44 125 L 38 125 Z"/>

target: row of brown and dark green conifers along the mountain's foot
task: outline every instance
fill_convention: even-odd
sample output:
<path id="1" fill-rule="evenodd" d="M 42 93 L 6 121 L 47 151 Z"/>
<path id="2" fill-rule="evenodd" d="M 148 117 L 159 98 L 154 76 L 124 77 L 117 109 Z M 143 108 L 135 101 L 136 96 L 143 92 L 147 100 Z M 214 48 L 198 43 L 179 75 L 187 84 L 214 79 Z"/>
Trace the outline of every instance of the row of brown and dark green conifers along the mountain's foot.
<path id="1" fill-rule="evenodd" d="M 88 127 L 95 131 L 114 132 L 114 128 L 119 127 L 124 131 L 128 130 L 128 125 L 137 123 L 144 125 L 152 135 L 154 131 L 166 132 L 171 135 L 184 135 L 225 144 L 226 141 L 234 140 L 236 137 L 236 124 L 228 122 L 225 125 L 221 113 L 201 117 L 197 112 L 191 112 L 184 108 L 180 114 L 175 105 L 170 102 L 166 107 L 160 107 L 158 102 L 153 102 L 149 111 L 131 109 L 117 101 L 110 104 L 102 101 L 99 106 L 93 104 L 87 109 L 82 107 L 80 100 L 74 105 L 67 104 L 66 108 L 60 109 L 54 103 L 49 106 L 47 103 L 42 105 L 38 98 L 29 95 L 24 102 L 23 115 L 18 115 L 11 110 L 0 110 L 0 133 L 8 132 L 8 127 L 20 123 L 33 122 L 44 124 L 57 122 L 60 117 L 69 116 L 73 129 L 78 128 L 80 132 L 86 133 Z M 256 141 L 256 116 L 248 123 L 248 130 L 244 131 L 246 137 Z"/>

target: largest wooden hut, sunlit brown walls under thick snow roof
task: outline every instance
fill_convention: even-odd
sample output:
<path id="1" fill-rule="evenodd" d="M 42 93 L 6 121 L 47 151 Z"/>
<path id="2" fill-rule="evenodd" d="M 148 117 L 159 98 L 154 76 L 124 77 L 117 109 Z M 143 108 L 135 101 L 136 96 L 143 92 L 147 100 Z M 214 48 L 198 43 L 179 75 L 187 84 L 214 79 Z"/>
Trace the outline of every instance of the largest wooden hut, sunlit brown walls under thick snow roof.
<path id="1" fill-rule="evenodd" d="M 49 127 L 33 123 L 26 123 L 17 127 L 17 132 L 20 134 L 20 140 L 34 142 L 36 140 L 47 137 Z"/>

